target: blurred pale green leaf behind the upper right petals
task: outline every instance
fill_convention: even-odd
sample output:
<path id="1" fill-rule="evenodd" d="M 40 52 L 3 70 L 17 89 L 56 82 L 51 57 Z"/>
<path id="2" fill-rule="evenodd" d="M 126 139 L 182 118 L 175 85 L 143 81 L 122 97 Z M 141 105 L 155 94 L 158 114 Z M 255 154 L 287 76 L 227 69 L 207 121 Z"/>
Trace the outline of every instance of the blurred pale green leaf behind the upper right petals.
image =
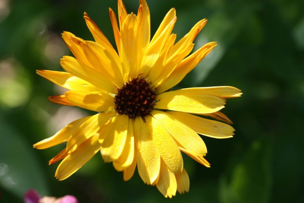
<path id="1" fill-rule="evenodd" d="M 226 53 L 229 46 L 236 40 L 237 35 L 242 30 L 244 24 L 250 18 L 252 9 L 247 5 L 234 6 L 243 7 L 240 10 L 219 10 L 208 18 L 208 23 L 203 30 L 203 34 L 198 36 L 198 43 L 195 44 L 194 50 L 202 47 L 204 44 L 216 41 L 217 46 L 196 66 L 189 74 L 192 77 L 190 86 L 198 86 L 207 77 L 209 72 L 218 64 Z"/>

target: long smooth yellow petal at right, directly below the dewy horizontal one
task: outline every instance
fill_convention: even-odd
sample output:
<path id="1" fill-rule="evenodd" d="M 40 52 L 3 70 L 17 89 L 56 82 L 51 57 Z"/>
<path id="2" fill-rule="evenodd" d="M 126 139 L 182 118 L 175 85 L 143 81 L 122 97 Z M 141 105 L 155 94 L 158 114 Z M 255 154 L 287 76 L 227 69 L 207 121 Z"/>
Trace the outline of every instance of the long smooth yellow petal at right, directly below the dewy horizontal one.
<path id="1" fill-rule="evenodd" d="M 168 114 L 184 123 L 196 133 L 212 138 L 231 138 L 235 131 L 230 125 L 219 121 L 212 121 L 192 114 L 170 111 Z"/>

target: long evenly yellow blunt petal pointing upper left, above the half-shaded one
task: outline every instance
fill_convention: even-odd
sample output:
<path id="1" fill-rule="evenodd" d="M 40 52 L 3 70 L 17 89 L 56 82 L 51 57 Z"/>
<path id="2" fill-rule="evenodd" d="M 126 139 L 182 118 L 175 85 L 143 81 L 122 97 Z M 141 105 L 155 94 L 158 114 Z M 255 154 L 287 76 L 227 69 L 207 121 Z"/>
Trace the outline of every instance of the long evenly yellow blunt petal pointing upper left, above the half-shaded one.
<path id="1" fill-rule="evenodd" d="M 111 93 L 117 92 L 117 87 L 108 77 L 102 75 L 101 72 L 95 70 L 94 68 L 81 63 L 76 58 L 64 56 L 60 60 L 60 64 L 66 72 L 90 82 L 92 85 L 103 91 Z"/>

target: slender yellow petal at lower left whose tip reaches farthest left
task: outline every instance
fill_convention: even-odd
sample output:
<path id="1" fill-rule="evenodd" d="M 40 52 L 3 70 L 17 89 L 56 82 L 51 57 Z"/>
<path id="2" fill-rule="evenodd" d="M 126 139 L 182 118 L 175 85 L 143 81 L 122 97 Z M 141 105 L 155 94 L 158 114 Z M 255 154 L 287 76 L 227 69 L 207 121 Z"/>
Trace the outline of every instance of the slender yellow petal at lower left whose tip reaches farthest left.
<path id="1" fill-rule="evenodd" d="M 58 131 L 55 135 L 53 135 L 50 138 L 46 138 L 40 142 L 37 142 L 34 144 L 34 148 L 37 149 L 46 149 L 49 147 L 53 147 L 55 145 L 59 145 L 63 142 L 67 142 L 67 140 L 70 138 L 70 136 L 83 124 L 85 121 L 87 121 L 92 116 L 84 117 L 81 119 L 78 119 L 76 121 L 71 122 L 64 128 L 62 128 L 60 131 Z"/>

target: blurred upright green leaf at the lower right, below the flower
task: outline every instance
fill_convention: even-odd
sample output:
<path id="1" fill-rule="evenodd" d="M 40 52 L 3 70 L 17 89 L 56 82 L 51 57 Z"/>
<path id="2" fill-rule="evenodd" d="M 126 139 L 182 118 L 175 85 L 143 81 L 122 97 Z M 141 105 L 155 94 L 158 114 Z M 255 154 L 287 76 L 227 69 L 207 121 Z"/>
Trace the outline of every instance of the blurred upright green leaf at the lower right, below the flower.
<path id="1" fill-rule="evenodd" d="M 243 160 L 234 167 L 229 184 L 226 177 L 222 177 L 221 202 L 269 202 L 272 183 L 270 140 L 268 137 L 252 143 Z"/>

